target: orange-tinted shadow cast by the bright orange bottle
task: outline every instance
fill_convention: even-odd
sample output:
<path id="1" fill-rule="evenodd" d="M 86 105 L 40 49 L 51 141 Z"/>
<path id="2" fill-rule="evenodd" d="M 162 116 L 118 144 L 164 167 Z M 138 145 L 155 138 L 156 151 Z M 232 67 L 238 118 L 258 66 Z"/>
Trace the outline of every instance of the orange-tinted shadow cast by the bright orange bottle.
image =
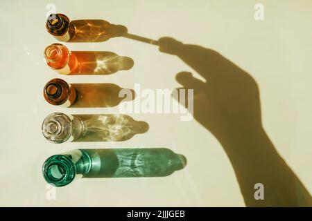
<path id="1" fill-rule="evenodd" d="M 108 51 L 72 51 L 73 67 L 69 75 L 111 75 L 119 70 L 130 70 L 130 57 Z"/>

